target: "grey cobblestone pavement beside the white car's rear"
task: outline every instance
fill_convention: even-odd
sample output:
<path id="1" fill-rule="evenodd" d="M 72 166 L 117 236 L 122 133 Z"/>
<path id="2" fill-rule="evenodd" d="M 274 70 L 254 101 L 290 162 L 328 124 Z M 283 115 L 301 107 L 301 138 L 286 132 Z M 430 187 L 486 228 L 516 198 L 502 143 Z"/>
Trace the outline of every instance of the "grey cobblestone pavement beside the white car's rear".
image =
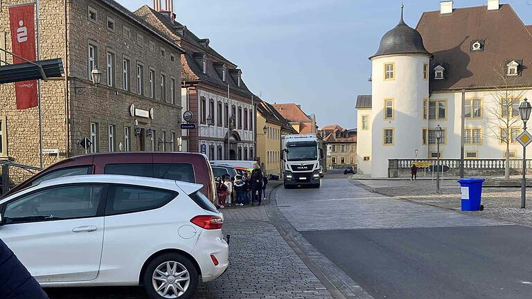
<path id="1" fill-rule="evenodd" d="M 269 190 L 278 182 L 270 185 Z M 224 234 L 231 235 L 224 275 L 201 283 L 197 299 L 333 298 L 269 222 L 267 205 L 227 208 Z M 139 287 L 46 289 L 51 299 L 145 299 Z"/>

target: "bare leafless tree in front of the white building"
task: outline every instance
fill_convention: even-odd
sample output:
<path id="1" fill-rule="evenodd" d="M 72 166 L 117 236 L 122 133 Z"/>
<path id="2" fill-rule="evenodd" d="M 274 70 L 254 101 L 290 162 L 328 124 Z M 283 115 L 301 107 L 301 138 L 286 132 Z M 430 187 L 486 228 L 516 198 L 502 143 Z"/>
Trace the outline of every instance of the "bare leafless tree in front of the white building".
<path id="1" fill-rule="evenodd" d="M 519 105 L 526 90 L 516 88 L 520 86 L 520 76 L 507 75 L 506 64 L 495 67 L 493 71 L 497 74 L 499 84 L 491 88 L 490 97 L 484 103 L 485 127 L 488 128 L 488 136 L 506 145 L 504 178 L 509 179 L 510 145 L 515 143 L 515 138 L 522 130 Z"/>

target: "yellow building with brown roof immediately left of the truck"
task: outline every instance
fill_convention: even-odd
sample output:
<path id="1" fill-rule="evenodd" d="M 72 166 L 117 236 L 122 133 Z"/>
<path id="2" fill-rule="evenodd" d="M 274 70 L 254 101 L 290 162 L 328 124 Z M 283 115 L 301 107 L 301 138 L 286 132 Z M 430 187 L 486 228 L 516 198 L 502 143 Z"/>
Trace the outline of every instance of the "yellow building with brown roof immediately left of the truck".
<path id="1" fill-rule="evenodd" d="M 258 161 L 266 174 L 281 176 L 281 136 L 297 131 L 264 101 L 257 104 L 257 128 Z"/>

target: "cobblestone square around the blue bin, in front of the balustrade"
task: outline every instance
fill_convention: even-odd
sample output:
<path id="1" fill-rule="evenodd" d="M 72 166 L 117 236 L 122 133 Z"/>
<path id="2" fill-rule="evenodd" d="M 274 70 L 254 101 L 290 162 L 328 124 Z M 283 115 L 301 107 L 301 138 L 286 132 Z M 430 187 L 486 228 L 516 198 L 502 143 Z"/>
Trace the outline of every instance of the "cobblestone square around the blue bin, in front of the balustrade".
<path id="1" fill-rule="evenodd" d="M 436 182 L 429 180 L 357 180 L 355 183 L 366 185 L 366 190 L 391 197 L 452 210 L 461 209 L 460 185 L 455 180 L 443 181 L 441 194 L 436 194 Z M 530 206 L 532 199 L 529 198 L 528 200 Z M 520 203 L 520 188 L 483 188 L 482 204 L 484 210 L 466 213 L 532 226 L 532 210 L 529 208 L 521 209 Z"/>

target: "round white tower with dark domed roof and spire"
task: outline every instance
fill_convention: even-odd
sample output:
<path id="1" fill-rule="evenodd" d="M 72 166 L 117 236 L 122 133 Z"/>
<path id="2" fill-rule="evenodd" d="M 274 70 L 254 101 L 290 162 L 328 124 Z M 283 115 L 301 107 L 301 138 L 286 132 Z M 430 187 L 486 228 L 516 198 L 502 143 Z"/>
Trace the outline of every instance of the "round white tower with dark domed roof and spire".
<path id="1" fill-rule="evenodd" d="M 371 176 L 387 177 L 388 160 L 427 158 L 423 150 L 424 101 L 429 98 L 429 60 L 432 54 L 423 46 L 414 28 L 399 24 L 381 39 L 379 50 L 369 57 L 372 65 Z M 425 110 L 428 107 L 425 107 Z M 425 111 L 425 114 L 427 111 Z"/>

